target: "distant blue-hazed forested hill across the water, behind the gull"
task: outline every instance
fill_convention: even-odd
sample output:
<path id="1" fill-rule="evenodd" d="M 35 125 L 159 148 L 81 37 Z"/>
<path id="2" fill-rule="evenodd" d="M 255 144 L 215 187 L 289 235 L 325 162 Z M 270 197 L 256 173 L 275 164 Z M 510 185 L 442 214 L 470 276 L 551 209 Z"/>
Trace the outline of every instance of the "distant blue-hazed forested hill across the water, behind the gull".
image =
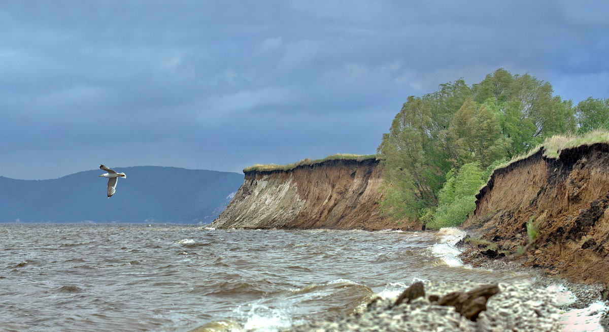
<path id="1" fill-rule="evenodd" d="M 125 172 L 107 198 L 105 172 L 52 180 L 0 177 L 0 222 L 174 222 L 208 224 L 224 210 L 243 175 L 159 166 Z"/>

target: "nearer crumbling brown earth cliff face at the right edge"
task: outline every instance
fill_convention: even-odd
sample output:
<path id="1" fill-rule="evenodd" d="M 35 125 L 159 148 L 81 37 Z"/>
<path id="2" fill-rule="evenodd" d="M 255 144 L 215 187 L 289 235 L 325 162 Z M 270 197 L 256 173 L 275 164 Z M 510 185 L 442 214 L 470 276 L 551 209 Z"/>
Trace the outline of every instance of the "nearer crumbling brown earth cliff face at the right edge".
<path id="1" fill-rule="evenodd" d="M 609 144 L 564 149 L 557 159 L 540 151 L 496 170 L 476 198 L 463 228 L 515 252 L 527 247 L 532 221 L 539 235 L 525 265 L 609 283 Z"/>

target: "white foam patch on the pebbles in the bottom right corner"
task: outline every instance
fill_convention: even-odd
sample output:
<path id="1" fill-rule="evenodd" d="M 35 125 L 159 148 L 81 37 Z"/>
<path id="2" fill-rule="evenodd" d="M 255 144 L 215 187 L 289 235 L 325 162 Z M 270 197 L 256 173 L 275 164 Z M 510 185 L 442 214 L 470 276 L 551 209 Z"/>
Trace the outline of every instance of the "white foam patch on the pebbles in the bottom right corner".
<path id="1" fill-rule="evenodd" d="M 594 302 L 588 308 L 571 309 L 560 314 L 563 332 L 603 332 L 600 319 L 609 311 L 604 302 Z"/>

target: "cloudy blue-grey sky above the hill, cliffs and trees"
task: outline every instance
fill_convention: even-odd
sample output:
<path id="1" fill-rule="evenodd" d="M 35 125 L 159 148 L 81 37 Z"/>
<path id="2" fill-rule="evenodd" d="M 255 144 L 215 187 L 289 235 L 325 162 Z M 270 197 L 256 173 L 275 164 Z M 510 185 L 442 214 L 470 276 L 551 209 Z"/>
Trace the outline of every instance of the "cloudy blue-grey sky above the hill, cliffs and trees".
<path id="1" fill-rule="evenodd" d="M 408 96 L 498 68 L 608 98 L 607 3 L 0 0 L 0 175 L 374 154 Z"/>

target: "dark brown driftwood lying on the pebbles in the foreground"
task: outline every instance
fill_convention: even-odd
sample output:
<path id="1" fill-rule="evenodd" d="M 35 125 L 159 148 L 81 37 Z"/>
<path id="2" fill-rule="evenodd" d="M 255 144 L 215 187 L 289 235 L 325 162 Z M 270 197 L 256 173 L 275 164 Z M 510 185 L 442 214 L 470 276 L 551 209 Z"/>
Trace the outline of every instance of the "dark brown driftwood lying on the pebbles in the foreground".
<path id="1" fill-rule="evenodd" d="M 451 292 L 444 295 L 442 298 L 438 297 L 438 295 L 429 295 L 429 300 L 430 302 L 435 302 L 437 305 L 454 306 L 457 313 L 466 319 L 475 322 L 476 319 L 478 319 L 478 315 L 487 309 L 488 298 L 498 292 L 499 287 L 497 284 L 485 284 L 479 288 L 474 288 L 469 292 Z M 410 303 L 415 298 L 424 296 L 425 289 L 423 283 L 418 281 L 409 288 L 406 288 L 389 308 L 393 308 L 404 302 Z"/>

